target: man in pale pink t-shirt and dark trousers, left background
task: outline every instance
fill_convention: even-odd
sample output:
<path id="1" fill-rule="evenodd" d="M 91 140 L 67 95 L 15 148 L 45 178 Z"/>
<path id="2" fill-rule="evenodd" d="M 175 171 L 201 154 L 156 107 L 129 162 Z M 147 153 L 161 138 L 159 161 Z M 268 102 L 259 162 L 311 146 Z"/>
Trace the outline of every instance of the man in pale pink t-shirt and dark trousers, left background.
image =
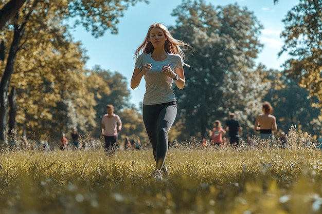
<path id="1" fill-rule="evenodd" d="M 107 154 L 115 153 L 115 143 L 117 140 L 117 131 L 122 128 L 122 121 L 120 117 L 114 113 L 114 106 L 108 104 L 106 106 L 107 113 L 102 118 L 102 132 L 105 140 L 105 151 Z"/>

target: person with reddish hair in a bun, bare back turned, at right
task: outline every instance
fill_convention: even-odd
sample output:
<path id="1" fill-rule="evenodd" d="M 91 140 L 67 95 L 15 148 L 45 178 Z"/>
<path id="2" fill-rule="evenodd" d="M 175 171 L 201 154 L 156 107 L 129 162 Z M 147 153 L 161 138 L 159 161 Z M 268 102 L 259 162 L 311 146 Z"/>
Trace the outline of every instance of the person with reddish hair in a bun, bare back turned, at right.
<path id="1" fill-rule="evenodd" d="M 262 112 L 256 118 L 255 130 L 259 131 L 259 137 L 261 139 L 274 140 L 274 132 L 277 131 L 277 124 L 275 116 L 271 114 L 273 107 L 269 102 L 263 103 Z"/>

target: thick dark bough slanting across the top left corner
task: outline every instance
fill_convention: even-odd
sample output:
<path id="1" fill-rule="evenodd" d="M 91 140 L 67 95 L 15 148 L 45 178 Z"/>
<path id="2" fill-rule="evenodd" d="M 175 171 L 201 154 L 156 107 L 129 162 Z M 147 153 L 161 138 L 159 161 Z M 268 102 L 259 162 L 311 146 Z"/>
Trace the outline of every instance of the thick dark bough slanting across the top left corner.
<path id="1" fill-rule="evenodd" d="M 0 10 L 0 30 L 18 12 L 26 0 L 11 0 Z"/>

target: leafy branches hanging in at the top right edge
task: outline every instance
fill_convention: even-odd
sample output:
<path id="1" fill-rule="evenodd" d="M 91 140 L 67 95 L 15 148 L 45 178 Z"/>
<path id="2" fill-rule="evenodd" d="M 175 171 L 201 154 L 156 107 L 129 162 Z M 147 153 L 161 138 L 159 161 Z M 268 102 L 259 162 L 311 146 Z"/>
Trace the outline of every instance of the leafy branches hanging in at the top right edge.
<path id="1" fill-rule="evenodd" d="M 285 43 L 279 55 L 284 52 L 290 55 L 283 64 L 284 73 L 309 91 L 312 106 L 319 108 L 322 114 L 321 16 L 321 0 L 300 0 L 283 20 L 285 29 L 281 37 Z M 322 121 L 321 115 L 319 120 Z"/>

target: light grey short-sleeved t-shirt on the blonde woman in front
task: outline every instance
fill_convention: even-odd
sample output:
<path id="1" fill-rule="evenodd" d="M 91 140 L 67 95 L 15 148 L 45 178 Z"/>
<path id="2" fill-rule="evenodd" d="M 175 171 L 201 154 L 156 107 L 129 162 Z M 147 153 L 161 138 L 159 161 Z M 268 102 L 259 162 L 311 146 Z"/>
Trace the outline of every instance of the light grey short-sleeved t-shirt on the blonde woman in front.
<path id="1" fill-rule="evenodd" d="M 135 67 L 142 69 L 145 64 L 151 64 L 151 69 L 145 74 L 146 93 L 144 94 L 144 105 L 155 105 L 176 101 L 173 93 L 172 78 L 162 72 L 162 67 L 169 65 L 174 71 L 176 68 L 184 66 L 180 55 L 168 53 L 166 59 L 155 61 L 151 53 L 143 53 L 138 56 Z"/>

